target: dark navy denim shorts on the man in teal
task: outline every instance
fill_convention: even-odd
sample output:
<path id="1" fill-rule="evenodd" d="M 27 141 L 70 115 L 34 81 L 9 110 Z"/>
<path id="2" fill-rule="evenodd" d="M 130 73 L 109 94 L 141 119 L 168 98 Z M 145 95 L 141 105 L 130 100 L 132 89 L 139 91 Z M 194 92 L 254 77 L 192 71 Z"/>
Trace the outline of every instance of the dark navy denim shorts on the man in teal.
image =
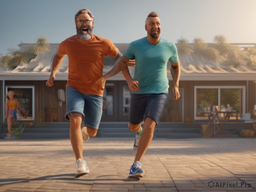
<path id="1" fill-rule="evenodd" d="M 149 116 L 158 124 L 168 94 L 134 94 L 131 93 L 129 122 L 139 124 Z M 157 125 L 156 124 L 156 125 Z"/>

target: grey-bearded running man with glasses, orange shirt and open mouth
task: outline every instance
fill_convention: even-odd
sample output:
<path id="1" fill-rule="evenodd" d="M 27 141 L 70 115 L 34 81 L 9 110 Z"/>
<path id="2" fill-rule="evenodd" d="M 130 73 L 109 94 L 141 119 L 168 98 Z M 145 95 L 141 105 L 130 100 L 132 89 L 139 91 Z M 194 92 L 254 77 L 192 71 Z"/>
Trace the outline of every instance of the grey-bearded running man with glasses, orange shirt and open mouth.
<path id="1" fill-rule="evenodd" d="M 102 76 L 104 57 L 109 55 L 118 59 L 122 54 L 110 40 L 93 35 L 94 16 L 89 9 L 80 9 L 75 15 L 75 23 L 77 35 L 67 38 L 59 45 L 46 84 L 49 87 L 53 85 L 55 74 L 67 55 L 69 67 L 65 118 L 70 121 L 70 141 L 78 165 L 76 177 L 80 177 L 89 173 L 83 159 L 83 140 L 97 134 L 102 116 L 105 81 L 119 73 L 128 63 L 115 64 Z M 129 61 L 129 65 L 134 63 Z"/>

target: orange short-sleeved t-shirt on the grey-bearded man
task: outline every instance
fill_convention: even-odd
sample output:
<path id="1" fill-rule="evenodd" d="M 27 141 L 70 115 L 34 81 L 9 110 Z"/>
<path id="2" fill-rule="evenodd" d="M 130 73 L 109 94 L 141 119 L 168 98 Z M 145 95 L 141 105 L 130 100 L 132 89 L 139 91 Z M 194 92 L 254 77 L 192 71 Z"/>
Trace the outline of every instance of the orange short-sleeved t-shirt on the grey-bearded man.
<path id="1" fill-rule="evenodd" d="M 115 57 L 118 53 L 115 45 L 105 38 L 92 35 L 89 40 L 81 40 L 77 35 L 62 41 L 57 55 L 67 55 L 67 87 L 73 87 L 81 93 L 103 95 L 104 87 L 96 81 L 102 77 L 104 57 Z"/>

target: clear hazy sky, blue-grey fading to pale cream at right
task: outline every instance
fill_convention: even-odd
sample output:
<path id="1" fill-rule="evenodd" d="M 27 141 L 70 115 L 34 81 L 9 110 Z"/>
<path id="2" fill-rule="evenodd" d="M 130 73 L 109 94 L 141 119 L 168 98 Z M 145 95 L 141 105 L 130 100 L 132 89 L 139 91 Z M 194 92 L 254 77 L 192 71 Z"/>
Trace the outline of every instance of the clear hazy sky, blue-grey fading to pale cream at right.
<path id="1" fill-rule="evenodd" d="M 182 37 L 212 43 L 220 34 L 229 43 L 256 43 L 256 0 L 0 0 L 0 53 L 41 36 L 60 43 L 75 35 L 82 7 L 95 16 L 93 34 L 113 43 L 144 37 L 151 11 L 160 16 L 160 37 L 174 43 Z"/>

